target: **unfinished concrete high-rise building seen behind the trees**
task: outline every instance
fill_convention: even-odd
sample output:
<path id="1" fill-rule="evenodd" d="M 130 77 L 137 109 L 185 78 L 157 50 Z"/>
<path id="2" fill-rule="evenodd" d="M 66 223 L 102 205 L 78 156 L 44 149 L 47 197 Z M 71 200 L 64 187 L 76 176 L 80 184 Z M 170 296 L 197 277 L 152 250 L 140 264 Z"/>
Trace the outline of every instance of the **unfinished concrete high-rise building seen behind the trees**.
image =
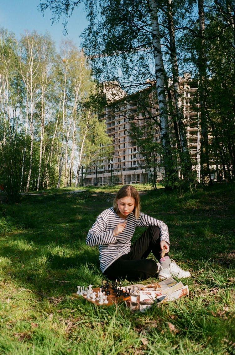
<path id="1" fill-rule="evenodd" d="M 194 170 L 200 180 L 200 125 L 198 110 L 191 105 L 195 99 L 196 85 L 186 80 L 181 81 L 182 109 L 185 119 L 185 127 L 188 138 L 188 147 Z M 156 109 L 151 109 L 156 116 Z M 154 112 L 155 111 L 155 112 Z M 146 113 L 145 113 L 146 117 Z M 142 184 L 151 182 L 151 169 L 147 167 L 146 159 L 140 153 L 140 149 L 130 135 L 131 122 L 138 121 L 141 129 L 145 129 L 145 120 L 138 110 L 138 102 L 117 100 L 110 104 L 100 114 L 100 120 L 105 121 L 106 133 L 112 138 L 112 151 L 110 158 L 102 157 L 94 166 L 88 168 L 84 176 L 85 185 L 125 185 Z M 157 125 L 156 125 L 157 126 Z M 154 139 L 160 141 L 159 132 L 156 129 Z M 157 180 L 163 178 L 161 157 L 158 160 Z"/>

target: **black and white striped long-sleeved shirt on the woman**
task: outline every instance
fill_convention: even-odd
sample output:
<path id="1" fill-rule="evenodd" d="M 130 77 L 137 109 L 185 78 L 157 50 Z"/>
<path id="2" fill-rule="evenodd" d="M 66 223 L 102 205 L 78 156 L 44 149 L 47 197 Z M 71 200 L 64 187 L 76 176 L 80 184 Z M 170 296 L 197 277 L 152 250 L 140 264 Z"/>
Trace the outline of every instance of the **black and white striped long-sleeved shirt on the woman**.
<path id="1" fill-rule="evenodd" d="M 114 236 L 113 229 L 118 223 L 123 223 L 124 221 L 127 224 L 123 232 Z M 170 244 L 167 225 L 156 218 L 140 212 L 138 219 L 135 218 L 133 213 L 130 213 L 126 219 L 122 219 L 117 215 L 113 207 L 101 212 L 86 237 L 87 245 L 99 246 L 101 272 L 104 272 L 120 256 L 129 253 L 131 239 L 136 227 L 149 227 L 150 225 L 158 226 L 161 240 Z"/>

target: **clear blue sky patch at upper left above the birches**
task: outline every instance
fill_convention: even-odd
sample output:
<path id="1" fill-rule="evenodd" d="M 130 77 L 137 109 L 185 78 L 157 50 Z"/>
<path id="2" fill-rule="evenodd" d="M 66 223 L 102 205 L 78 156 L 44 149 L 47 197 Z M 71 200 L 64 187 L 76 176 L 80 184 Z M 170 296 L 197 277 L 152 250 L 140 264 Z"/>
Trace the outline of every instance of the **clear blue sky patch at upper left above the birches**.
<path id="1" fill-rule="evenodd" d="M 62 19 L 60 23 L 51 26 L 52 13 L 50 10 L 42 13 L 38 10 L 40 0 L 0 0 L 0 27 L 15 33 L 19 39 L 25 30 L 37 31 L 39 34 L 49 32 L 51 38 L 56 42 L 57 49 L 62 39 L 72 40 L 80 48 L 79 35 L 87 26 L 84 5 L 75 9 L 72 17 L 68 19 L 68 34 L 63 35 Z"/>

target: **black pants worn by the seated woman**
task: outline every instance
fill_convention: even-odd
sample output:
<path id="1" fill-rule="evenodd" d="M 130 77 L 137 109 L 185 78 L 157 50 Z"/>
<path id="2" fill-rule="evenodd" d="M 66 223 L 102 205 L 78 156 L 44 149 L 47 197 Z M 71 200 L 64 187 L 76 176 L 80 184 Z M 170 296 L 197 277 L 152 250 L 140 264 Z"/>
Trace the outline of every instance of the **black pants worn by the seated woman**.
<path id="1" fill-rule="evenodd" d="M 156 226 L 147 228 L 130 247 L 130 252 L 119 257 L 103 273 L 110 280 L 144 280 L 152 277 L 157 273 L 157 263 L 152 259 L 146 259 L 151 251 L 159 261 L 160 228 Z"/>

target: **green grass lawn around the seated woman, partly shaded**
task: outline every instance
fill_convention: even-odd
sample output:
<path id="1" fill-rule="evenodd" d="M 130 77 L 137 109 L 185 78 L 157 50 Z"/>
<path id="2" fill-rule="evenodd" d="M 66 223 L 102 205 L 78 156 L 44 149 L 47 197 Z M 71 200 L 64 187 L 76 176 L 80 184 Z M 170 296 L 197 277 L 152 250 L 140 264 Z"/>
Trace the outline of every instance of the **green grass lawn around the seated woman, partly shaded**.
<path id="1" fill-rule="evenodd" d="M 0 354 L 235 354 L 234 185 L 194 196 L 136 187 L 142 211 L 167 223 L 171 257 L 192 274 L 189 297 L 138 314 L 73 298 L 77 285 L 104 279 L 85 237 L 119 186 L 23 195 L 0 205 Z"/>

